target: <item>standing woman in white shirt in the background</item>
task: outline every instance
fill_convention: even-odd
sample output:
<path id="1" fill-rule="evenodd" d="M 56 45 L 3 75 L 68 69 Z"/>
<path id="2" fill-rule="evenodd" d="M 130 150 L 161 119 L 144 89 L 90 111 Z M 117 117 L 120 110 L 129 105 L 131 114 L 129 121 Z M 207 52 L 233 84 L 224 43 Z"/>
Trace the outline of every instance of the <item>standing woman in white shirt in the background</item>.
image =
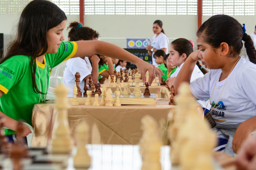
<path id="1" fill-rule="evenodd" d="M 153 36 L 152 38 L 151 45 L 147 45 L 146 49 L 148 50 L 149 55 L 152 56 L 152 64 L 157 67 L 159 64 L 155 62 L 153 55 L 158 49 L 162 49 L 167 54 L 169 39 L 163 31 L 163 22 L 161 22 L 160 20 L 155 20 L 152 30 L 155 36 Z"/>

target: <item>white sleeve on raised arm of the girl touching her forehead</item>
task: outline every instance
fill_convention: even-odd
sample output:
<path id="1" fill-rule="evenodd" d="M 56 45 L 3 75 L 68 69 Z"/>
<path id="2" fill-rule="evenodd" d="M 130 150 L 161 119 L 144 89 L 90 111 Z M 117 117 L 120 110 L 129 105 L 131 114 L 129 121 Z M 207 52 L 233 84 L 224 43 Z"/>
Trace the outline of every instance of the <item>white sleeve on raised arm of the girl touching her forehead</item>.
<path id="1" fill-rule="evenodd" d="M 210 98 L 210 80 L 211 71 L 206 73 L 204 77 L 200 77 L 190 83 L 191 93 L 199 100 L 205 101 Z"/>

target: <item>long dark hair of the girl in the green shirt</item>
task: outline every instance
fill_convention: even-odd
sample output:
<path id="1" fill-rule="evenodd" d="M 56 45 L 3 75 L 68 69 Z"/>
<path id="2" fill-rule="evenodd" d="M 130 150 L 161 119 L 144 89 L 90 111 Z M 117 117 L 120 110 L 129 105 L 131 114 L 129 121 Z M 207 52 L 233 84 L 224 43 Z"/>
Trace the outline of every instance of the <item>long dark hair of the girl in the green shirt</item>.
<path id="1" fill-rule="evenodd" d="M 0 64 L 14 55 L 27 55 L 30 59 L 32 85 L 35 93 L 42 93 L 36 85 L 36 57 L 46 53 L 48 30 L 67 20 L 65 13 L 48 0 L 34 0 L 28 3 L 18 22 L 18 33 L 10 43 L 8 51 Z"/>

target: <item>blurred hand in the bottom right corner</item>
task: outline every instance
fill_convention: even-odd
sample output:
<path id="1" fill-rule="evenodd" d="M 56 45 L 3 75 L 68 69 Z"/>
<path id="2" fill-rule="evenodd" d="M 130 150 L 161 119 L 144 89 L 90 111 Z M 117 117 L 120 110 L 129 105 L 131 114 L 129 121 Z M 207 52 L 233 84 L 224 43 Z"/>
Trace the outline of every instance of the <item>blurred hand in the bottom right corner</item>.
<path id="1" fill-rule="evenodd" d="M 256 134 L 248 137 L 238 151 L 237 170 L 255 170 L 256 167 Z"/>

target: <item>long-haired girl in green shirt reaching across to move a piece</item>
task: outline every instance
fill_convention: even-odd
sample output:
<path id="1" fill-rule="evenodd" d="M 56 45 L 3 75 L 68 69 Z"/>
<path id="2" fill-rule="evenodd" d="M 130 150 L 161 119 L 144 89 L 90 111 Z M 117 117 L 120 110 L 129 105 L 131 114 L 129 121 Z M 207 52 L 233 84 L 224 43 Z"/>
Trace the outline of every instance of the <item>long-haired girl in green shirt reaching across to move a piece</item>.
<path id="1" fill-rule="evenodd" d="M 8 128 L 6 135 L 15 138 L 13 134 L 20 119 L 32 125 L 32 109 L 45 101 L 51 68 L 69 58 L 100 53 L 134 63 L 144 82 L 147 70 L 149 84 L 155 78 L 153 65 L 111 43 L 64 42 L 66 20 L 65 13 L 47 0 L 31 1 L 22 11 L 16 39 L 0 60 L 0 116 Z M 27 127 L 18 135 L 29 133 Z"/>

